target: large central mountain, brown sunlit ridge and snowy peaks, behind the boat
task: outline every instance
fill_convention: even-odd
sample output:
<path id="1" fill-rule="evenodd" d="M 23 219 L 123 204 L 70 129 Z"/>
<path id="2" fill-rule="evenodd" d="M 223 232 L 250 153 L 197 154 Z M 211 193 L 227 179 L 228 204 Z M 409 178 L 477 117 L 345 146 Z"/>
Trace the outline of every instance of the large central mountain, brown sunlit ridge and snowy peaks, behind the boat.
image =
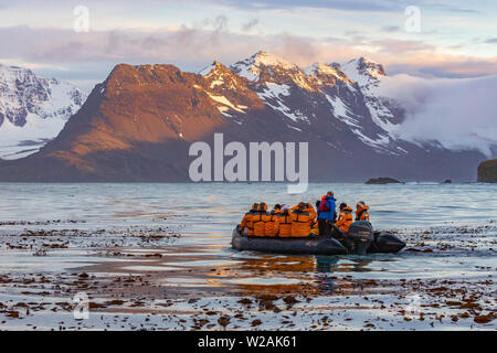
<path id="1" fill-rule="evenodd" d="M 189 181 L 190 145 L 223 132 L 225 142 L 308 141 L 310 181 L 474 181 L 480 151 L 401 138 L 406 111 L 381 95 L 384 79 L 364 57 L 299 67 L 257 52 L 197 74 L 120 64 L 39 152 L 0 161 L 0 180 Z"/>

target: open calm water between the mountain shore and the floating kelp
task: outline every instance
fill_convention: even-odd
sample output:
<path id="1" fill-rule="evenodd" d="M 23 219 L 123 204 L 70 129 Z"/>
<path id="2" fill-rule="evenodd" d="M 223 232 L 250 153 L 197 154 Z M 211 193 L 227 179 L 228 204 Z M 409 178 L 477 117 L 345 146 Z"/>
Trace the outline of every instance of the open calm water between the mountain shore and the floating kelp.
<path id="1" fill-rule="evenodd" d="M 8 184 L 0 183 L 0 221 L 83 220 L 88 227 L 150 225 L 157 216 L 188 224 L 186 243 L 228 242 L 253 202 L 314 202 L 335 191 L 338 203 L 371 206 L 376 228 L 478 224 L 497 217 L 497 184 L 311 184 L 288 195 L 284 184 Z M 171 220 L 172 221 L 172 220 Z"/>

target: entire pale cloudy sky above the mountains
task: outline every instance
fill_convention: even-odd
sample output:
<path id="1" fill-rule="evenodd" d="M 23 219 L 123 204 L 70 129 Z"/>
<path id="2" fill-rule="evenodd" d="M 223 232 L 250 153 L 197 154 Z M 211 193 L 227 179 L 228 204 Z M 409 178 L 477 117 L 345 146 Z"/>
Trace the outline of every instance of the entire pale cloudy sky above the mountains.
<path id="1" fill-rule="evenodd" d="M 367 56 L 389 75 L 480 77 L 497 74 L 497 1 L 0 0 L 0 63 L 86 92 L 119 63 L 198 72 L 260 50 L 299 65 Z"/>

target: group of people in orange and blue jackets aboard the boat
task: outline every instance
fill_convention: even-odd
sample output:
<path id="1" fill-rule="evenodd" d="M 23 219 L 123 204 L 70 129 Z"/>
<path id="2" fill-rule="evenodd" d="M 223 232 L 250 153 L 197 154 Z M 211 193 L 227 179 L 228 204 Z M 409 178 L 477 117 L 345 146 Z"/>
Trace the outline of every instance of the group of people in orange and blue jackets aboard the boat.
<path id="1" fill-rule="evenodd" d="M 244 215 L 240 232 L 247 236 L 266 237 L 316 237 L 332 236 L 347 243 L 347 233 L 353 220 L 353 211 L 346 203 L 336 211 L 337 200 L 329 191 L 316 202 L 315 207 L 305 202 L 289 207 L 276 204 L 267 212 L 264 202 L 254 203 Z M 369 221 L 369 207 L 363 201 L 356 206 L 356 221 Z"/>

